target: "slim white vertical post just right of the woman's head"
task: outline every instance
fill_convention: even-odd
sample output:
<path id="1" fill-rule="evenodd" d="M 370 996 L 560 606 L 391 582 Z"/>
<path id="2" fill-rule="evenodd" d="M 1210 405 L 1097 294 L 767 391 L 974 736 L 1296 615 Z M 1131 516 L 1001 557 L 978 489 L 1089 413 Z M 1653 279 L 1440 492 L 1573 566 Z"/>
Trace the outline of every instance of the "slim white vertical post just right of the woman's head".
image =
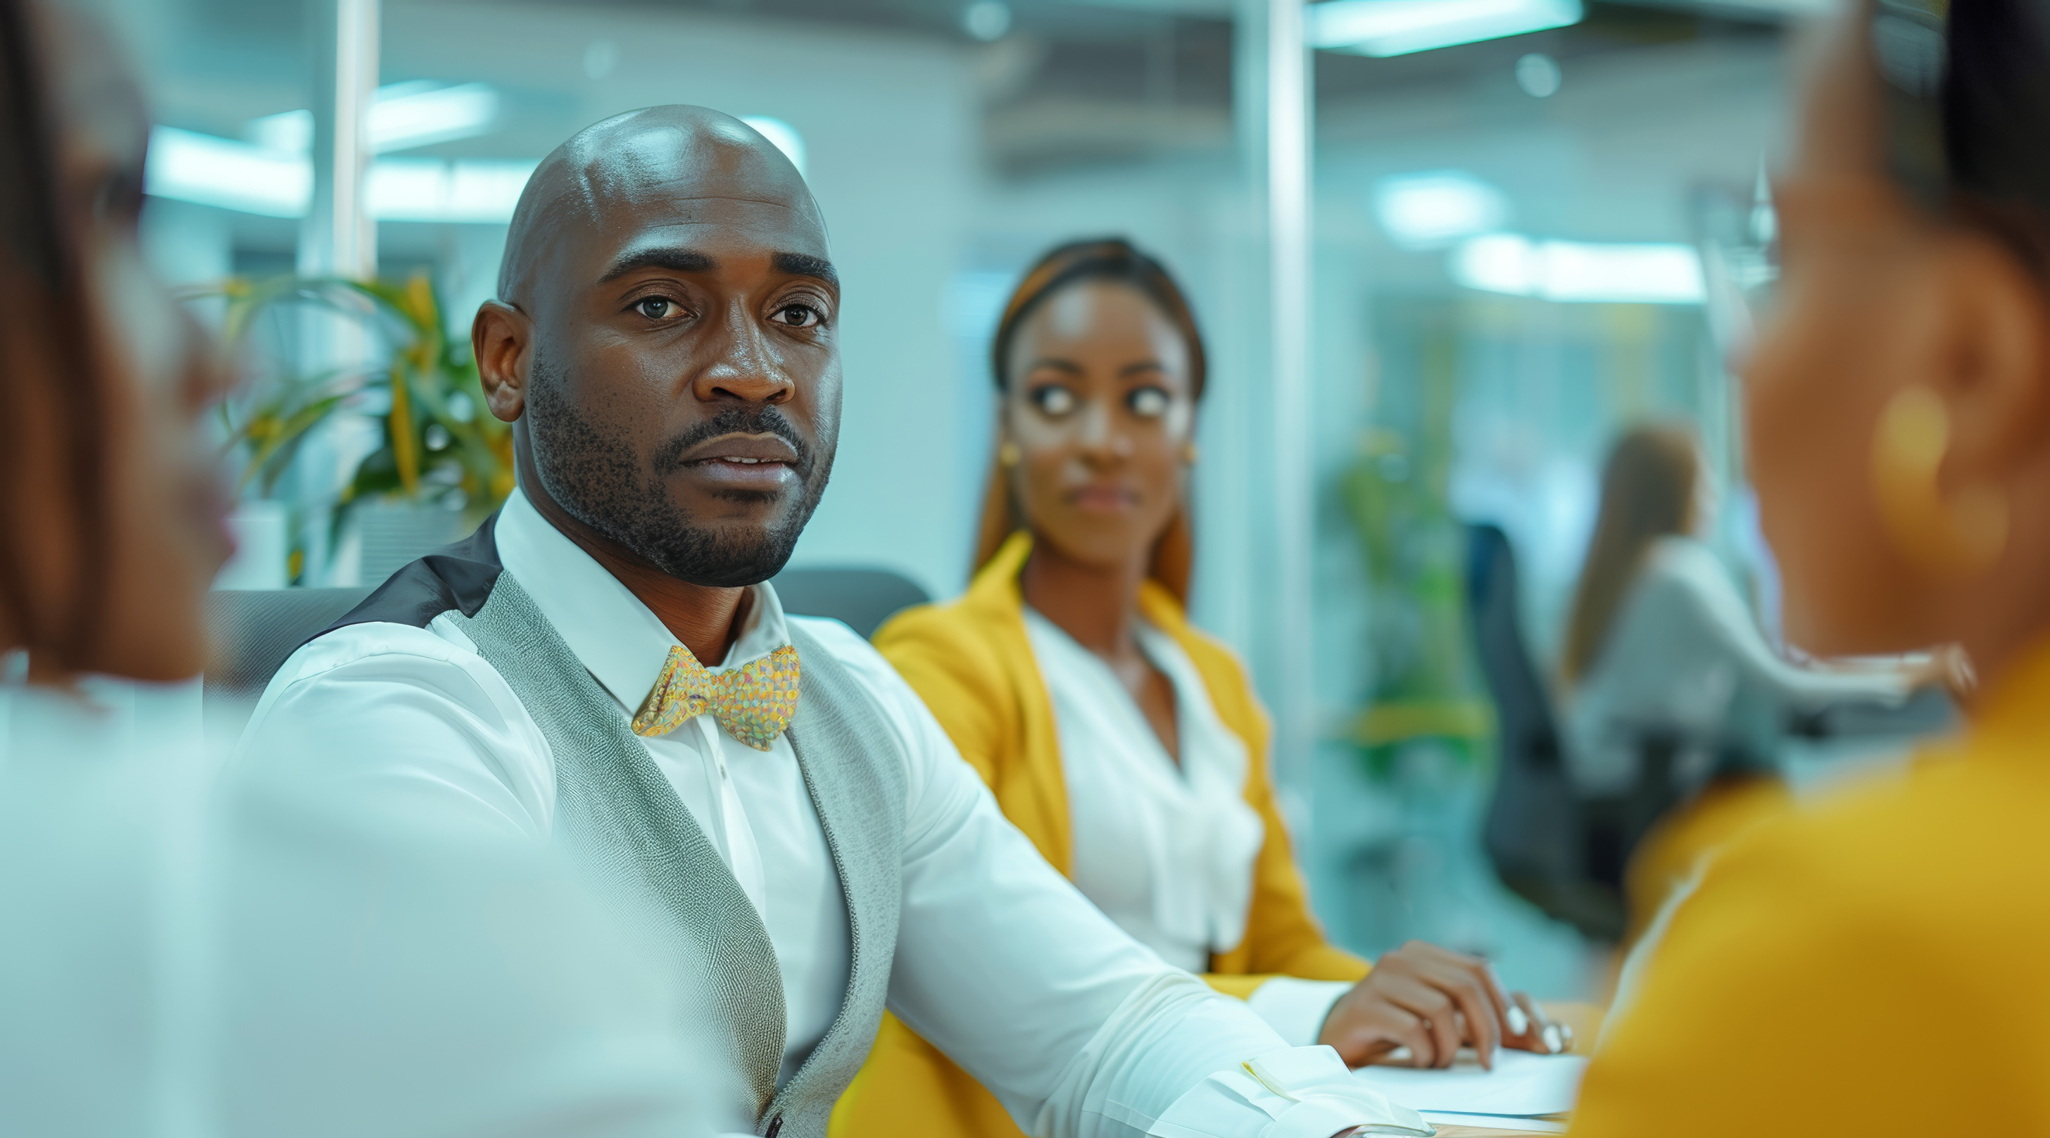
<path id="1" fill-rule="evenodd" d="M 1267 0 L 1267 357 L 1273 439 L 1275 773 L 1304 785 L 1316 746 L 1310 431 L 1310 51 L 1304 0 Z"/>

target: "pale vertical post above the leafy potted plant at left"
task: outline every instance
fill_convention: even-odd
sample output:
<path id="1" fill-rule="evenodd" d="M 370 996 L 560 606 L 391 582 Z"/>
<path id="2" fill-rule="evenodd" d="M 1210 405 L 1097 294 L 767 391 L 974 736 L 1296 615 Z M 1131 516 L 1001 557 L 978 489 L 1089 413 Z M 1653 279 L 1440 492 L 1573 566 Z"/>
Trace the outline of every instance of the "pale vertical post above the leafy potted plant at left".
<path id="1" fill-rule="evenodd" d="M 314 4 L 314 203 L 299 230 L 299 273 L 377 273 L 377 223 L 365 213 L 363 174 L 379 14 L 379 0 Z"/>

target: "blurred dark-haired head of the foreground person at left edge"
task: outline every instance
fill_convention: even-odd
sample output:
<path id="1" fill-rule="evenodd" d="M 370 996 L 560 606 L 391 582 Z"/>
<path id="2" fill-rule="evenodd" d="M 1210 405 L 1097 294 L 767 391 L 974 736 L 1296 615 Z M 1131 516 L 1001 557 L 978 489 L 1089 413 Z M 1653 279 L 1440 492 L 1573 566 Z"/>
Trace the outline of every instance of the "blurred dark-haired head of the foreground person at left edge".
<path id="1" fill-rule="evenodd" d="M 205 336 L 144 265 L 150 121 L 107 37 L 0 2 L 0 652 L 184 679 L 228 556 Z"/>

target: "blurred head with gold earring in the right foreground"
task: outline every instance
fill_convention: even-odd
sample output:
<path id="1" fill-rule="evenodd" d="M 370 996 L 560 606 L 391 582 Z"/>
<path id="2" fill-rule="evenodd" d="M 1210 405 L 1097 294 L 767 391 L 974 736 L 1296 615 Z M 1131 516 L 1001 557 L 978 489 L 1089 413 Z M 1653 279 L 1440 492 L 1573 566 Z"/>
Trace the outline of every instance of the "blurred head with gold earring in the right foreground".
<path id="1" fill-rule="evenodd" d="M 1859 4 L 1779 182 L 1749 465 L 1818 654 L 2050 629 L 2050 2 Z"/>

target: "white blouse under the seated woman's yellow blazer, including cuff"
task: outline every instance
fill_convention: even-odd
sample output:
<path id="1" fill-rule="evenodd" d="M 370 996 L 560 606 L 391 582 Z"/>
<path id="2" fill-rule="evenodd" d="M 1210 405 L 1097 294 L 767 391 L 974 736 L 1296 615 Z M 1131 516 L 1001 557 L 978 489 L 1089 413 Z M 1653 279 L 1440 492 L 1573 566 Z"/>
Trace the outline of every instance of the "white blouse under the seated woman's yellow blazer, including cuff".
<path id="1" fill-rule="evenodd" d="M 1140 621 L 1140 652 L 1175 689 L 1181 757 L 1101 656 L 1039 611 L 1025 634 L 1046 679 L 1068 785 L 1072 878 L 1119 929 L 1162 960 L 1207 972 L 1246 935 L 1253 863 L 1267 828 L 1246 802 L 1250 763 L 1175 638 Z M 1351 984 L 1275 976 L 1246 1001 L 1283 1040 L 1310 1046 Z"/>

